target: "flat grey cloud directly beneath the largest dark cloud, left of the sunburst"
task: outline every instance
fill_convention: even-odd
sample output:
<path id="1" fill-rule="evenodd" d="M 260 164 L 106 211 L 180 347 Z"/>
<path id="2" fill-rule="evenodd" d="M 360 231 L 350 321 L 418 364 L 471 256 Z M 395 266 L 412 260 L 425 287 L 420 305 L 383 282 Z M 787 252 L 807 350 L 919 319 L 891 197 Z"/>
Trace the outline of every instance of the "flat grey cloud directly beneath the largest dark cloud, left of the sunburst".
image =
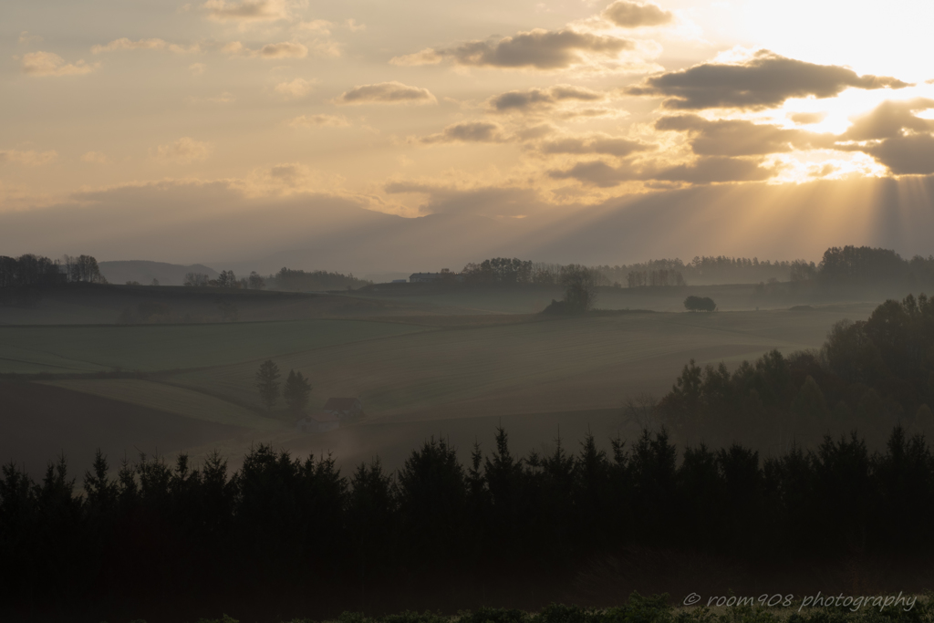
<path id="1" fill-rule="evenodd" d="M 815 135 L 803 130 L 785 130 L 776 125 L 744 120 L 705 120 L 697 115 L 663 117 L 657 130 L 685 132 L 691 149 L 701 156 L 759 156 L 785 153 L 792 149 L 829 147 L 832 135 Z"/>

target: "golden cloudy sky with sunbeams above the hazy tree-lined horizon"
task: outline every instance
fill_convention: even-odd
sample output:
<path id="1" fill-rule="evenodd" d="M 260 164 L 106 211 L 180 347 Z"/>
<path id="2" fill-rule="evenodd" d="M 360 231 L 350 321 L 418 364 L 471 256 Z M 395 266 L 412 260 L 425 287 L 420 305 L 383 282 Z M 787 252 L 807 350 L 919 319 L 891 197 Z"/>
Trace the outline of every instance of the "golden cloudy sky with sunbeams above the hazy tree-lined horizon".
<path id="1" fill-rule="evenodd" d="M 932 21 L 909 1 L 7 0 L 0 253 L 927 256 Z M 375 242 L 388 258 L 353 261 Z"/>

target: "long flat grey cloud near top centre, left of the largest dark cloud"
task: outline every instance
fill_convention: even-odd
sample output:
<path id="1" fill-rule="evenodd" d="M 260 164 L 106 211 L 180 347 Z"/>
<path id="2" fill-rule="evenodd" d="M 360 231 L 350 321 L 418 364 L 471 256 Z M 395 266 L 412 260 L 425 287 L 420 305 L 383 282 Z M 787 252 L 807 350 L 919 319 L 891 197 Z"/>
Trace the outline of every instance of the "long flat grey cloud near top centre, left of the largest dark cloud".
<path id="1" fill-rule="evenodd" d="M 635 43 L 616 36 L 573 30 L 533 30 L 499 41 L 469 41 L 450 50 L 436 50 L 455 62 L 475 67 L 565 69 L 584 62 L 584 54 L 616 57 Z"/>

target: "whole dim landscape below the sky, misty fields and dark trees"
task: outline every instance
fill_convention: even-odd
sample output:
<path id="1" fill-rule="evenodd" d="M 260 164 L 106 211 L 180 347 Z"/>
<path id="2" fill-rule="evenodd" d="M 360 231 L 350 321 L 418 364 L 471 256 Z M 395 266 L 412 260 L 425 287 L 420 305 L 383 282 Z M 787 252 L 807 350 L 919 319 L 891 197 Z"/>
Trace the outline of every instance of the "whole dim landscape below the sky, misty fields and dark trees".
<path id="1" fill-rule="evenodd" d="M 389 282 L 2 257 L 3 611 L 680 621 L 735 616 L 682 594 L 916 595 L 925 291 L 934 258 L 855 247 Z"/>

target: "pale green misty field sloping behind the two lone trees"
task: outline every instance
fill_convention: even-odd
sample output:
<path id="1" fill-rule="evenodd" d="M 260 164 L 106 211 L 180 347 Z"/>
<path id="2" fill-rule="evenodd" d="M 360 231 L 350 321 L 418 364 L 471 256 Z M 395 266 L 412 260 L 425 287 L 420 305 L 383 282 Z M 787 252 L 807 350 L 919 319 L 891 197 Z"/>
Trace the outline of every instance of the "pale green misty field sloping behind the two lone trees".
<path id="1" fill-rule="evenodd" d="M 629 313 L 447 328 L 294 352 L 275 361 L 313 379 L 313 408 L 329 396 L 360 396 L 370 418 L 602 409 L 640 391 L 666 391 L 688 359 L 741 361 L 771 348 L 819 347 L 834 321 L 868 313 L 863 307 Z M 255 367 L 206 368 L 173 381 L 259 404 L 249 384 Z"/>

